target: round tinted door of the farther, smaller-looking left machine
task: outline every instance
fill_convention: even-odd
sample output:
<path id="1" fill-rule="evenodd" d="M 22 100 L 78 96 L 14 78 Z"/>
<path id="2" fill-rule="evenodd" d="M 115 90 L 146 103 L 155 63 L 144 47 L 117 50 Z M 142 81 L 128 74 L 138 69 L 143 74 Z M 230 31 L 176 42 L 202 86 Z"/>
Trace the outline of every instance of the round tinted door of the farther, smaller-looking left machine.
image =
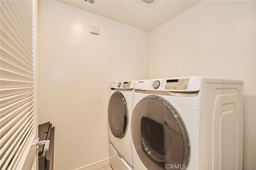
<path id="1" fill-rule="evenodd" d="M 108 124 L 111 133 L 122 138 L 126 133 L 128 123 L 128 110 L 126 100 L 122 93 L 114 92 L 108 103 Z"/>

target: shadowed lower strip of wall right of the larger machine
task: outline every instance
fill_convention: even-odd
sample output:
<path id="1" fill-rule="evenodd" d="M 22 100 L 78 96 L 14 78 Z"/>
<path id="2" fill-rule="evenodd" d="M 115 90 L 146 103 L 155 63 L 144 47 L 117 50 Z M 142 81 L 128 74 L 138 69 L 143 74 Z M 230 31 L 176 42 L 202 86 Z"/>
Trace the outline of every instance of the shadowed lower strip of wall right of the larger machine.
<path id="1" fill-rule="evenodd" d="M 256 169 L 256 96 L 244 95 L 243 169 Z M 246 155 L 246 157 L 244 157 Z"/>

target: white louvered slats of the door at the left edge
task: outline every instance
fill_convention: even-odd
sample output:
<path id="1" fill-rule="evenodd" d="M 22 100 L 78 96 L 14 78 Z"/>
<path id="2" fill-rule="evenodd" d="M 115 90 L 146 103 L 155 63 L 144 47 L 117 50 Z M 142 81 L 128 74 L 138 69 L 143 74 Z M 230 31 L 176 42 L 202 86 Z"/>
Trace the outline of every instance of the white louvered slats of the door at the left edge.
<path id="1" fill-rule="evenodd" d="M 0 169 L 16 169 L 34 125 L 33 2 L 0 0 Z"/>

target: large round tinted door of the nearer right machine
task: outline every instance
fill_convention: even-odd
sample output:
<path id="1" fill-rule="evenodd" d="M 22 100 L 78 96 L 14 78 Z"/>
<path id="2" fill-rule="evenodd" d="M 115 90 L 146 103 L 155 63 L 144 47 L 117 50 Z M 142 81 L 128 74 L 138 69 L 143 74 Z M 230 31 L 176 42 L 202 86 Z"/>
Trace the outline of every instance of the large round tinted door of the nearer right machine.
<path id="1" fill-rule="evenodd" d="M 142 99 L 132 113 L 132 140 L 148 170 L 186 169 L 190 144 L 176 109 L 158 96 Z"/>

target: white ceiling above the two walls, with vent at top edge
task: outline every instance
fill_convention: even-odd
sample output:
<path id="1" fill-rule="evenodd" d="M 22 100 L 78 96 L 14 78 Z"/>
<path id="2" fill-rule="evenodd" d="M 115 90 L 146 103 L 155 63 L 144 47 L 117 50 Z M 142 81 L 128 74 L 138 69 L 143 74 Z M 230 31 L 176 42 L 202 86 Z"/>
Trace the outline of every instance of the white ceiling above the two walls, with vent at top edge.
<path id="1" fill-rule="evenodd" d="M 96 0 L 94 4 L 85 0 L 58 1 L 150 32 L 201 0 L 156 0 L 151 6 L 140 0 Z"/>

